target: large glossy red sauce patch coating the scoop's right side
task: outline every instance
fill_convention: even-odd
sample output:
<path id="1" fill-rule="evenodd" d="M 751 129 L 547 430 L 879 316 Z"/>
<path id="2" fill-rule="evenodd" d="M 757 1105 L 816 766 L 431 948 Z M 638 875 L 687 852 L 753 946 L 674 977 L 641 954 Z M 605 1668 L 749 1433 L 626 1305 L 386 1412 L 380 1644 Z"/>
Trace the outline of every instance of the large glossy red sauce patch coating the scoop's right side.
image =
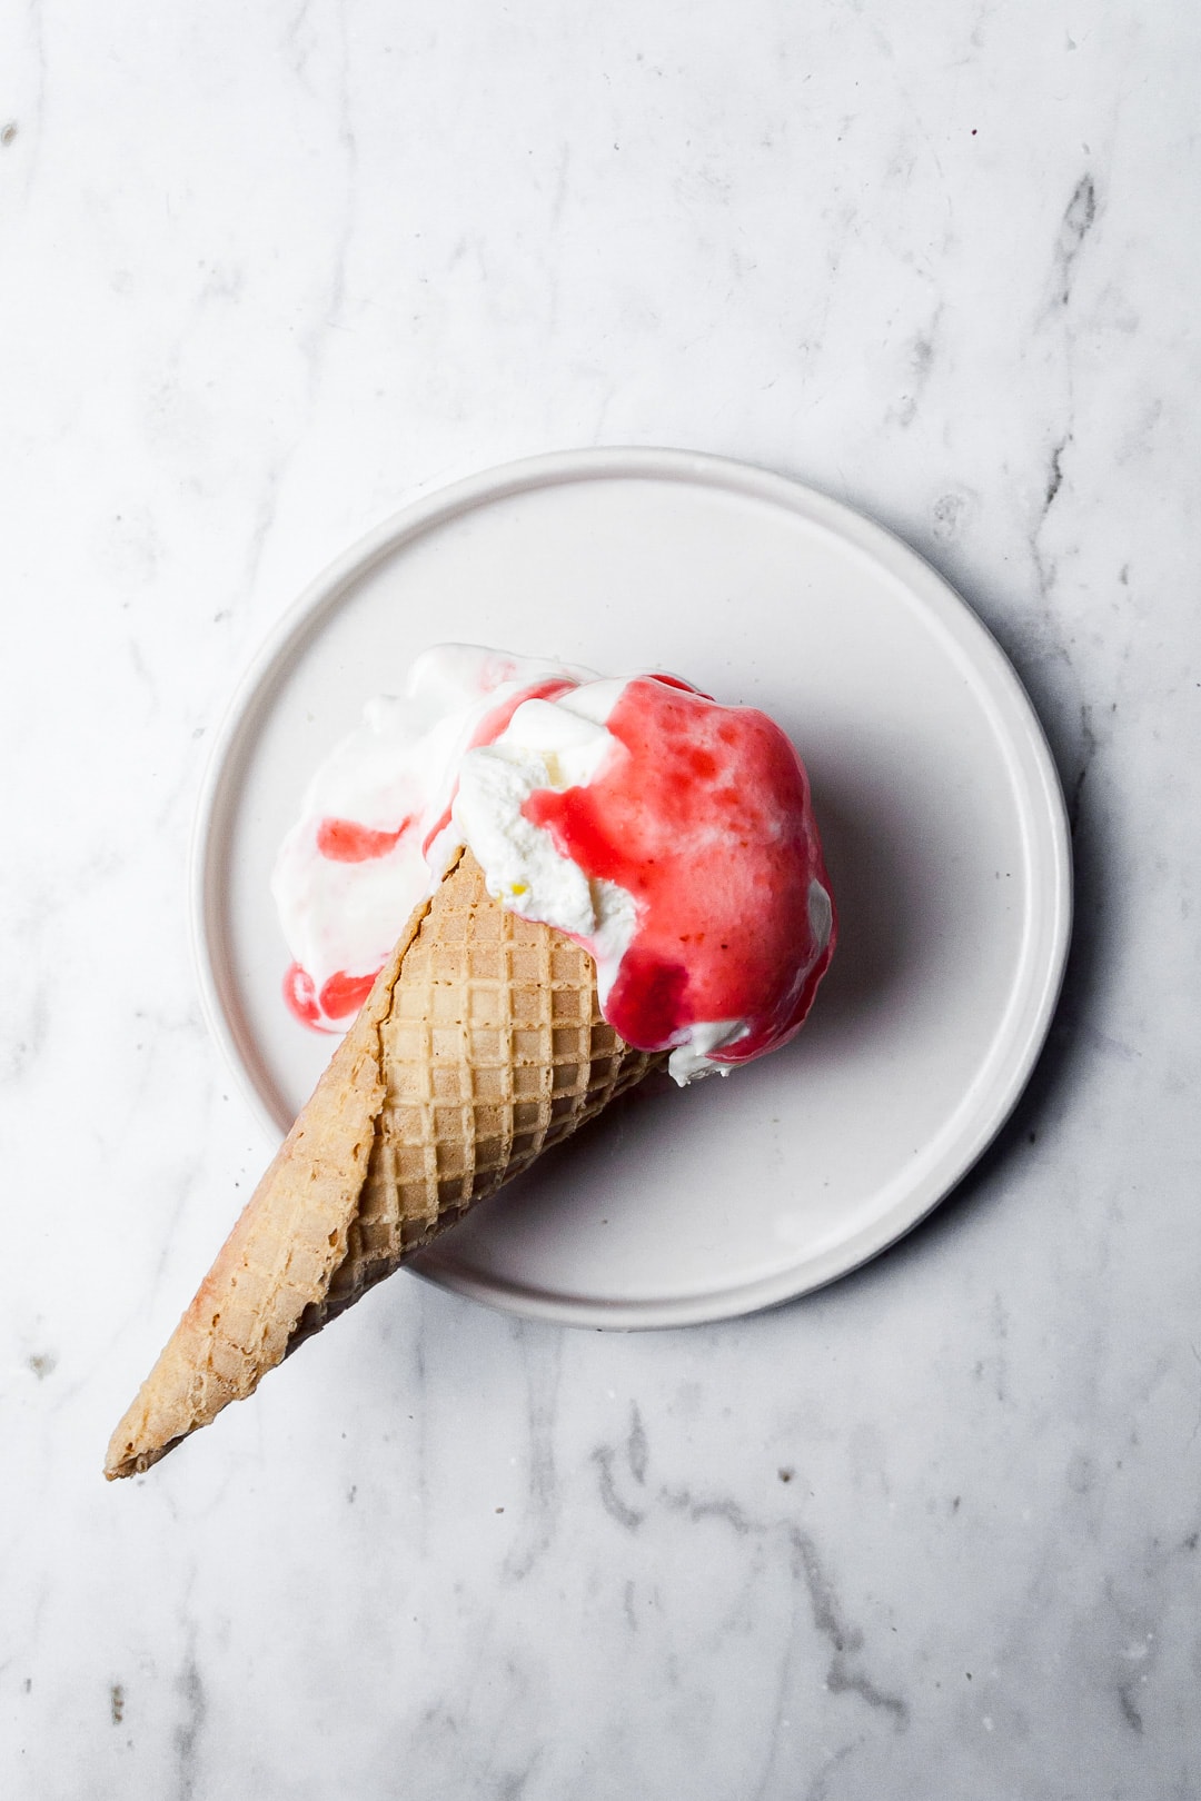
<path id="1" fill-rule="evenodd" d="M 817 953 L 808 884 L 828 891 L 808 778 L 754 708 L 715 706 L 639 675 L 609 715 L 614 753 L 587 785 L 538 789 L 526 818 L 592 881 L 634 895 L 637 933 L 605 1014 L 663 1050 L 702 1019 L 747 1019 L 717 1063 L 745 1063 L 799 1028 L 834 951 Z"/>

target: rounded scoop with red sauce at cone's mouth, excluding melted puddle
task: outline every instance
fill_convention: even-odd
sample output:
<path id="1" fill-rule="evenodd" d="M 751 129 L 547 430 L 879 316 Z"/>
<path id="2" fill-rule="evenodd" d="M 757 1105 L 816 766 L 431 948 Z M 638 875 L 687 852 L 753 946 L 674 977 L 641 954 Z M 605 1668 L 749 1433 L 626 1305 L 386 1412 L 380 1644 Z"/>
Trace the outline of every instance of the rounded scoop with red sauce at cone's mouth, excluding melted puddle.
<path id="1" fill-rule="evenodd" d="M 463 758 L 490 890 L 583 944 L 605 1018 L 690 1081 L 783 1045 L 832 955 L 808 780 L 754 708 L 677 677 L 522 702 Z"/>

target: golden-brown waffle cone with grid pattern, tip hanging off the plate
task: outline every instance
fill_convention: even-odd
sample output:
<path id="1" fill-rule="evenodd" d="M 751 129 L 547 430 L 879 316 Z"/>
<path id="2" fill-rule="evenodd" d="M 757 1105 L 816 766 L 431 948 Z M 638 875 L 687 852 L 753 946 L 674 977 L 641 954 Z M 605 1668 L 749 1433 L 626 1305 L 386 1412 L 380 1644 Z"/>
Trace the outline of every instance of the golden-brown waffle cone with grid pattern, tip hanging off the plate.
<path id="1" fill-rule="evenodd" d="M 104 1475 L 149 1464 L 659 1057 L 601 1018 L 591 956 L 493 900 L 465 852 L 221 1246 Z"/>

